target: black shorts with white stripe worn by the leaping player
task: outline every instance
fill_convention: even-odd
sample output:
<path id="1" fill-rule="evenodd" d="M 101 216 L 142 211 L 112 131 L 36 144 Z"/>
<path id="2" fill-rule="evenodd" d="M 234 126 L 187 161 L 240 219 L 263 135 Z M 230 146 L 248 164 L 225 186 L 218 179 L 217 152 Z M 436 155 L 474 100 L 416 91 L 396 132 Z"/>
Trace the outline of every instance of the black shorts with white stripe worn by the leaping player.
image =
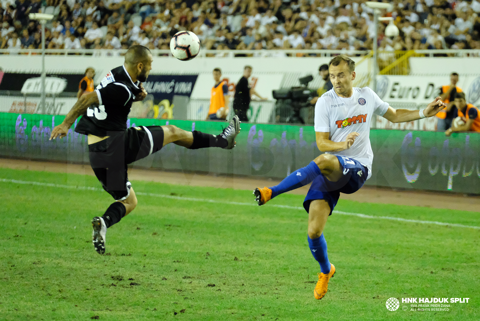
<path id="1" fill-rule="evenodd" d="M 163 147 L 161 126 L 132 127 L 108 132 L 107 139 L 88 145 L 88 158 L 96 178 L 116 201 L 130 195 L 127 165 Z"/>

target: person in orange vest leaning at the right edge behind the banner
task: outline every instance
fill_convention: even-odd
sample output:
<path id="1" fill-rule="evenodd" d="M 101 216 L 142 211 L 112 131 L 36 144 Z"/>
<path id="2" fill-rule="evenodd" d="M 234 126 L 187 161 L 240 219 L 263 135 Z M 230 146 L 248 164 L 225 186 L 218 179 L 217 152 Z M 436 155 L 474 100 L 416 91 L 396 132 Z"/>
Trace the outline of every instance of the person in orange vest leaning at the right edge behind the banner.
<path id="1" fill-rule="evenodd" d="M 446 136 L 450 136 L 452 132 L 457 131 L 477 131 L 480 132 L 480 113 L 479 109 L 472 104 L 467 104 L 465 100 L 465 93 L 456 93 L 455 100 L 453 102 L 456 106 L 456 117 L 461 117 L 465 124 L 456 125 L 452 124 L 452 127 L 445 131 Z"/>

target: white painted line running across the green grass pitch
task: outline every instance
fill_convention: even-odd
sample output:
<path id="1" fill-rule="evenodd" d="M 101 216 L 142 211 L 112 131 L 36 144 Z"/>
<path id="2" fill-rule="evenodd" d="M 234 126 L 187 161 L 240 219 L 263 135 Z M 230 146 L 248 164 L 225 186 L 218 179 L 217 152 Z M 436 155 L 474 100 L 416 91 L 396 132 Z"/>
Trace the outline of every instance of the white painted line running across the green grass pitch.
<path id="1" fill-rule="evenodd" d="M 57 188 L 73 189 L 73 190 L 103 190 L 103 189 L 99 189 L 99 188 L 96 188 L 96 187 L 88 187 L 88 186 L 73 186 L 73 185 L 62 185 L 62 184 L 53 184 L 53 183 L 29 182 L 29 181 L 24 181 L 24 180 L 6 179 L 6 178 L 0 178 L 0 182 L 15 183 L 15 184 L 26 184 L 26 185 L 37 185 L 37 186 L 47 186 L 47 187 L 57 187 Z M 144 193 L 144 192 L 135 192 L 135 194 L 144 195 L 144 196 L 168 198 L 168 199 L 173 199 L 173 200 L 191 201 L 191 202 L 207 202 L 207 203 L 216 203 L 216 204 L 258 206 L 256 204 L 254 204 L 253 202 L 252 203 L 228 202 L 228 201 L 208 200 L 208 199 L 200 199 L 200 198 L 193 198 L 193 197 L 172 196 L 172 195 L 153 194 L 153 193 Z M 268 205 L 268 206 L 278 207 L 278 208 L 286 208 L 286 209 L 291 209 L 291 210 L 304 210 L 304 208 L 300 207 L 300 206 L 288 206 L 288 205 L 276 205 L 276 204 L 271 204 L 271 205 Z M 409 219 L 406 219 L 406 218 L 391 217 L 391 216 L 372 216 L 372 215 L 342 212 L 342 211 L 336 211 L 336 210 L 334 210 L 333 212 L 336 213 L 336 214 L 357 216 L 357 217 L 361 217 L 361 218 L 384 219 L 384 220 L 392 220 L 392 221 L 399 221 L 399 222 L 409 222 L 409 223 L 419 223 L 419 224 L 434 224 L 434 225 L 441 225 L 441 226 L 456 226 L 456 227 L 467 227 L 467 228 L 480 229 L 480 226 L 468 226 L 468 225 L 456 224 L 456 223 L 409 220 Z"/>

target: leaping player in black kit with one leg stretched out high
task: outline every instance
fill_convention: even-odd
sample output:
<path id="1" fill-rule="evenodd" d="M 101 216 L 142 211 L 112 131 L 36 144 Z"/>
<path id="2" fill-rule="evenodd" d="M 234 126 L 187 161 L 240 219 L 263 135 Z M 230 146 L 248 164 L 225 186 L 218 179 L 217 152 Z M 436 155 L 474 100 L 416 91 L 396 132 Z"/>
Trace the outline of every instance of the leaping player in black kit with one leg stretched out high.
<path id="1" fill-rule="evenodd" d="M 190 149 L 232 149 L 240 132 L 237 116 L 219 135 L 183 131 L 173 125 L 127 129 L 132 102 L 141 101 L 147 95 L 142 83 L 152 69 L 152 62 L 148 48 L 130 47 L 123 66 L 109 71 L 94 92 L 82 95 L 50 136 L 50 139 L 65 137 L 75 119 L 83 115 L 75 131 L 88 135 L 90 165 L 103 188 L 115 199 L 103 216 L 92 220 L 93 244 L 100 254 L 105 253 L 107 228 L 118 223 L 137 205 L 128 181 L 128 164 L 159 151 L 168 143 Z"/>

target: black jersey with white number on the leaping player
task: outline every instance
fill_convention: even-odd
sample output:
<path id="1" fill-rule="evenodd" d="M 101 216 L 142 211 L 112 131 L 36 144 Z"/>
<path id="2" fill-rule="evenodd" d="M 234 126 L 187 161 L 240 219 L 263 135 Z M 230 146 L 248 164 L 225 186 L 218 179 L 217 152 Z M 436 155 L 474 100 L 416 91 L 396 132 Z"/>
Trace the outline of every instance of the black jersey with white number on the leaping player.
<path id="1" fill-rule="evenodd" d="M 139 83 L 133 83 L 124 66 L 109 71 L 95 90 L 99 105 L 88 107 L 75 131 L 84 135 L 107 136 L 108 131 L 126 130 L 132 102 L 142 92 Z"/>

